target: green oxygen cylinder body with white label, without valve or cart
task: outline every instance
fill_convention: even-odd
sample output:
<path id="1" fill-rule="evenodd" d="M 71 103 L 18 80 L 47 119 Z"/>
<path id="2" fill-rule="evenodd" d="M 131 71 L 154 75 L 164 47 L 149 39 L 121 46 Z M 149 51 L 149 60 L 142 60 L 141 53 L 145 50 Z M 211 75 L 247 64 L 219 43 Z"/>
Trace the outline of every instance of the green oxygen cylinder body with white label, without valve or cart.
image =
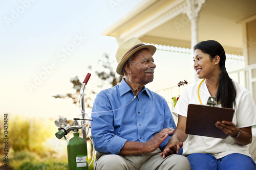
<path id="1" fill-rule="evenodd" d="M 68 143 L 69 170 L 88 170 L 87 142 L 74 132 Z"/>

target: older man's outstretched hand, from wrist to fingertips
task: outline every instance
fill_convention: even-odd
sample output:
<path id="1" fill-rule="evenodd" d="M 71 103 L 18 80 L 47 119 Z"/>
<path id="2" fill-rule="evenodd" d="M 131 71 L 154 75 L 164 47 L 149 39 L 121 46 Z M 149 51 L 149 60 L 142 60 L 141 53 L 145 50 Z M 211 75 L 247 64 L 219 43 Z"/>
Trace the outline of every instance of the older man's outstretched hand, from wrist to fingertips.
<path id="1" fill-rule="evenodd" d="M 174 131 L 174 128 L 166 128 L 161 130 L 152 139 L 143 144 L 143 149 L 146 151 L 146 153 L 155 151 L 160 147 L 160 144 L 168 137 L 168 135 L 173 134 Z"/>

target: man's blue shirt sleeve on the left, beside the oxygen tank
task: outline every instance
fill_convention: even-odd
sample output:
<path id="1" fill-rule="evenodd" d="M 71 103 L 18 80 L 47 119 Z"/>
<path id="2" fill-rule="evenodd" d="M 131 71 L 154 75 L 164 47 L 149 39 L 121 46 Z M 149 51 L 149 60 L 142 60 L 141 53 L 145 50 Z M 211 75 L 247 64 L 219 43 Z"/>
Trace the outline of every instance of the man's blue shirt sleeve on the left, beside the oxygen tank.
<path id="1" fill-rule="evenodd" d="M 114 133 L 111 103 L 104 93 L 97 94 L 92 109 L 92 137 L 95 150 L 106 154 L 119 154 L 127 139 Z"/>

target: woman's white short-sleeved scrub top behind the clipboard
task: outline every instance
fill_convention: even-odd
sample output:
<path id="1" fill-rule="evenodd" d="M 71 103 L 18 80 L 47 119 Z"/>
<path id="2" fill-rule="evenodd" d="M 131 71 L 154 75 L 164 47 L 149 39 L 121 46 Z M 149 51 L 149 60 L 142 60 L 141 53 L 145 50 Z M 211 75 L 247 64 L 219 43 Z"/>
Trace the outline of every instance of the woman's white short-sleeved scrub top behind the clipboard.
<path id="1" fill-rule="evenodd" d="M 198 98 L 198 86 L 201 81 L 187 86 L 180 96 L 173 113 L 175 115 L 187 116 L 188 104 L 200 105 Z M 236 108 L 234 108 L 234 116 L 232 122 L 238 128 L 244 128 L 256 125 L 256 106 L 250 92 L 234 82 L 237 89 Z M 207 104 L 210 93 L 207 89 L 205 81 L 200 86 L 200 99 L 203 105 Z M 221 107 L 219 104 L 218 107 Z M 197 135 L 188 135 L 184 146 L 183 155 L 193 153 L 208 153 L 217 159 L 232 153 L 239 153 L 250 156 L 248 145 L 240 145 L 232 137 L 226 139 L 212 138 Z"/>

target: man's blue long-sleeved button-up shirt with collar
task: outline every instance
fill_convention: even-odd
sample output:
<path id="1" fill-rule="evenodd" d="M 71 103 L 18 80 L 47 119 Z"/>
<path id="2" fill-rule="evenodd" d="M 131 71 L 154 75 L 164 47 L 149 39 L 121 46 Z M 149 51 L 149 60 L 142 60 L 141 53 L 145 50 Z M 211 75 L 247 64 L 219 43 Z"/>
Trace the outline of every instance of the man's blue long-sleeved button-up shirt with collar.
<path id="1" fill-rule="evenodd" d="M 96 151 L 119 154 L 126 141 L 146 142 L 164 128 L 176 129 L 173 116 L 162 96 L 144 86 L 138 99 L 132 101 L 133 98 L 134 93 L 124 79 L 119 85 L 97 94 L 92 109 L 95 113 L 91 115 Z M 161 143 L 161 149 L 169 138 L 170 135 Z"/>

